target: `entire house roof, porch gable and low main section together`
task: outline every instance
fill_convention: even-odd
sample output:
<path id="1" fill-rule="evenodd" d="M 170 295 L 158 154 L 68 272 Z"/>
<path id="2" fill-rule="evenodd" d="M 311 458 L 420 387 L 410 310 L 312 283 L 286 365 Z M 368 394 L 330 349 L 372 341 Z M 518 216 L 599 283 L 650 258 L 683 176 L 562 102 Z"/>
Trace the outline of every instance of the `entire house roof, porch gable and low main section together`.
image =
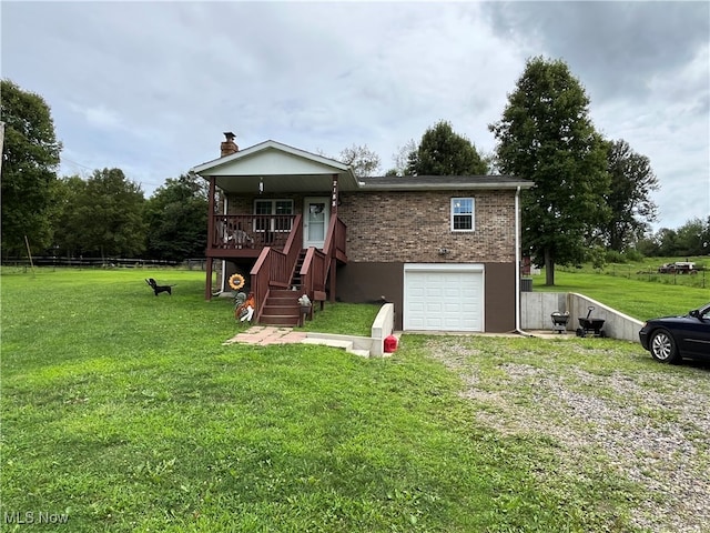
<path id="1" fill-rule="evenodd" d="M 511 175 L 356 178 L 353 169 L 341 161 L 272 140 L 199 164 L 191 172 L 204 179 L 214 178 L 220 189 L 236 193 L 331 191 L 334 175 L 341 191 L 529 189 L 534 184 Z"/>

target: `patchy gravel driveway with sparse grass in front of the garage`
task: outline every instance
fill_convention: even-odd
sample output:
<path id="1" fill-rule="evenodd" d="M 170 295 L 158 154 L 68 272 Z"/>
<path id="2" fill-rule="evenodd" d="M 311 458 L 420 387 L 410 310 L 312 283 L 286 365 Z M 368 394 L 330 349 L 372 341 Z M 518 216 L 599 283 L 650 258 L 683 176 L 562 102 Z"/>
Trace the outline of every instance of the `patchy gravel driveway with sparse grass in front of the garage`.
<path id="1" fill-rule="evenodd" d="M 462 395 L 486 408 L 481 424 L 548 435 L 569 472 L 594 454 L 643 486 L 635 525 L 710 532 L 709 364 L 662 365 L 609 340 L 446 336 L 427 348 L 463 378 Z"/>

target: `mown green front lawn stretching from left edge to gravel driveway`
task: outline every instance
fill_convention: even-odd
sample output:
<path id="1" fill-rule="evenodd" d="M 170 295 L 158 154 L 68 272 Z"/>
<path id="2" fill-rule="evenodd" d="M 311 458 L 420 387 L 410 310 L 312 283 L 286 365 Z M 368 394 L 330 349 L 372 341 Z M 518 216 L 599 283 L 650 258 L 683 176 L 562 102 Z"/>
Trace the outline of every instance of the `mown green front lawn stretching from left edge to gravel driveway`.
<path id="1" fill-rule="evenodd" d="M 372 360 L 223 345 L 241 326 L 230 299 L 206 302 L 201 272 L 150 274 L 173 295 L 142 270 L 2 271 L 3 531 L 31 527 L 8 519 L 28 512 L 72 532 L 636 531 L 645 495 L 612 465 L 580 459 L 572 479 L 555 440 L 478 420 L 493 408 L 432 356 L 448 341 L 405 335 Z M 308 328 L 369 334 L 374 312 L 335 304 Z M 601 374 L 652 364 L 610 340 L 475 342 L 490 389 L 505 362 L 551 351 Z"/>

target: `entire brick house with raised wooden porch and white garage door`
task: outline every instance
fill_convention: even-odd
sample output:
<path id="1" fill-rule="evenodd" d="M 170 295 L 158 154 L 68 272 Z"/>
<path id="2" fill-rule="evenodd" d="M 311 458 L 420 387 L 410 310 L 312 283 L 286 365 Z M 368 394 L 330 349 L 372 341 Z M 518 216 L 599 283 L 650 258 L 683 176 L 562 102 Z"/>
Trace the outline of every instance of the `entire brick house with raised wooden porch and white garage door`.
<path id="1" fill-rule="evenodd" d="M 395 304 L 395 328 L 519 328 L 519 194 L 505 175 L 356 178 L 275 141 L 192 172 L 210 183 L 205 298 L 239 272 L 261 323 L 295 324 L 297 298 Z M 216 286 L 213 280 L 216 275 Z"/>

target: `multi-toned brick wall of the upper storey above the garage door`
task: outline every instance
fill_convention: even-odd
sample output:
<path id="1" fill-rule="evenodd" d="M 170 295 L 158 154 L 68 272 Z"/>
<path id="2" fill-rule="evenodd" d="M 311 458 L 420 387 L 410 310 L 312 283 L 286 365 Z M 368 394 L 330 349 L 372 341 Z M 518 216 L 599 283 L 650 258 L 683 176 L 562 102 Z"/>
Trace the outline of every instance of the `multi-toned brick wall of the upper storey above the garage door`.
<path id="1" fill-rule="evenodd" d="M 450 231 L 450 199 L 475 198 L 475 231 Z M 342 193 L 351 262 L 515 261 L 515 192 Z M 439 249 L 449 250 L 446 255 Z"/>

